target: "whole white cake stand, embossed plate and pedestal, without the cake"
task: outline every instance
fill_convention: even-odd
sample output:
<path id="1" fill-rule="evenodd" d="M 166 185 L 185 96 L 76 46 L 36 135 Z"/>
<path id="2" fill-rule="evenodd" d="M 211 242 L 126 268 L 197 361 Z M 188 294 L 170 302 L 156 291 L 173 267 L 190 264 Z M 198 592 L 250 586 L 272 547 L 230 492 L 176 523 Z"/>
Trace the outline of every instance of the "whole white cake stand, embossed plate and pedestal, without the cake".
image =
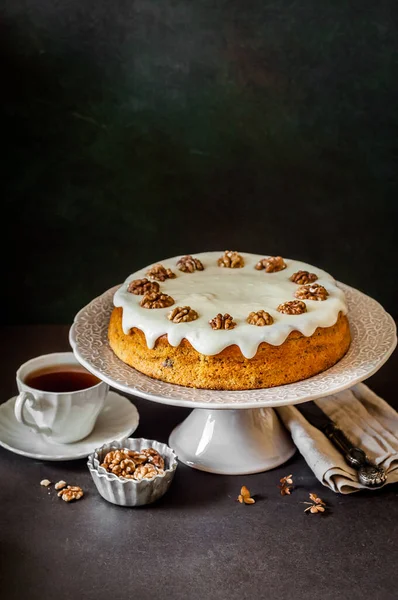
<path id="1" fill-rule="evenodd" d="M 335 394 L 373 375 L 396 343 L 392 317 L 372 298 L 347 285 L 352 344 L 346 356 L 324 373 L 264 390 L 213 391 L 163 383 L 129 367 L 107 340 L 112 298 L 108 290 L 83 308 L 70 330 L 79 362 L 112 387 L 147 400 L 193 408 L 170 435 L 169 444 L 185 464 L 228 475 L 258 473 L 286 462 L 295 447 L 274 407 Z"/>

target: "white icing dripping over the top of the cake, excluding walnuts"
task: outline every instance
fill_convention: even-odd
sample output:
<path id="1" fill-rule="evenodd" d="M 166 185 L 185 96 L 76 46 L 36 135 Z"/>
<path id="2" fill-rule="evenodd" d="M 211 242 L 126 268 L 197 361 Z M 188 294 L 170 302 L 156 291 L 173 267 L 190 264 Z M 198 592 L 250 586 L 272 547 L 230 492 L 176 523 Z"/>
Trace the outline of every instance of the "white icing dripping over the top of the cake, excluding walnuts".
<path id="1" fill-rule="evenodd" d="M 197 352 L 214 355 L 236 344 L 243 356 L 253 358 L 261 342 L 279 346 L 292 331 L 299 331 L 308 337 L 317 327 L 334 325 L 340 312 L 347 314 L 344 292 L 337 287 L 331 275 L 318 267 L 285 258 L 286 269 L 266 273 L 255 269 L 257 262 L 266 255 L 240 252 L 244 267 L 230 269 L 217 264 L 223 254 L 222 251 L 194 254 L 202 262 L 204 270 L 193 273 L 178 270 L 176 263 L 180 256 L 156 263 L 171 269 L 176 275 L 175 279 L 158 282 L 160 292 L 174 299 L 173 306 L 168 308 L 143 308 L 140 306 L 142 296 L 127 291 L 131 281 L 147 277 L 147 271 L 154 265 L 130 275 L 114 295 L 114 305 L 123 309 L 124 333 L 127 334 L 132 327 L 141 329 L 150 349 L 160 336 L 167 335 L 171 346 L 178 346 L 185 338 Z M 324 301 L 305 300 L 305 313 L 282 314 L 277 307 L 295 300 L 294 293 L 299 285 L 290 281 L 290 277 L 300 270 L 315 273 L 318 276 L 316 283 L 324 286 L 329 296 Z M 198 313 L 198 319 L 188 323 L 173 323 L 167 315 L 177 306 L 191 307 Z M 246 322 L 249 313 L 259 310 L 265 310 L 273 317 L 272 325 L 256 327 Z M 209 321 L 218 313 L 230 314 L 236 327 L 213 330 Z"/>

